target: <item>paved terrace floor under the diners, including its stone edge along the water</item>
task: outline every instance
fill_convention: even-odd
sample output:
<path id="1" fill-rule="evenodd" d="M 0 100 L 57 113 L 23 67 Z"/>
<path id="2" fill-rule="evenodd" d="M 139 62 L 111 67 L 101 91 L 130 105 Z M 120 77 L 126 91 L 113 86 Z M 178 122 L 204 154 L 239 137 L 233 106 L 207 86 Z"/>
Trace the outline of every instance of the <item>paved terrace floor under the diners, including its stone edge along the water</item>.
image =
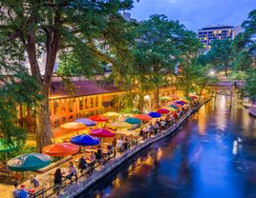
<path id="1" fill-rule="evenodd" d="M 202 104 L 204 103 L 205 102 L 203 102 Z M 104 165 L 99 165 L 98 163 L 96 163 L 96 166 L 94 168 L 89 167 L 82 173 L 80 171 L 77 171 L 74 177 L 74 181 L 72 183 L 70 180 L 64 179 L 62 185 L 60 186 L 61 189 L 59 190 L 59 195 L 56 195 L 56 190 L 53 186 L 53 173 L 56 168 L 46 171 L 45 173 L 37 174 L 36 178 L 39 179 L 39 181 L 43 181 L 43 184 L 41 184 L 44 188 L 39 190 L 37 193 L 31 195 L 31 197 L 75 197 L 82 191 L 96 184 L 97 181 L 105 177 L 107 174 L 111 173 L 114 169 L 122 165 L 125 161 L 130 159 L 141 149 L 148 147 L 149 145 L 159 141 L 160 139 L 168 135 L 175 134 L 176 129 L 181 126 L 182 122 L 185 121 L 193 112 L 200 109 L 201 106 L 188 109 L 186 112 L 184 112 L 184 114 L 179 118 L 176 123 L 174 123 L 171 127 L 160 131 L 156 135 L 151 135 L 145 139 L 138 139 L 138 142 L 131 144 L 130 149 L 127 149 L 122 153 L 117 152 L 116 156 L 106 156 L 106 158 L 104 159 Z M 74 155 L 72 161 L 77 162 L 77 159 L 80 157 L 80 155 L 81 153 Z M 67 168 L 69 162 L 70 161 L 63 163 L 61 165 L 61 169 Z M 30 186 L 29 181 L 25 182 L 25 185 L 27 187 Z M 5 187 L 4 191 L 0 192 L 1 197 L 11 197 L 11 190 L 11 186 Z"/>

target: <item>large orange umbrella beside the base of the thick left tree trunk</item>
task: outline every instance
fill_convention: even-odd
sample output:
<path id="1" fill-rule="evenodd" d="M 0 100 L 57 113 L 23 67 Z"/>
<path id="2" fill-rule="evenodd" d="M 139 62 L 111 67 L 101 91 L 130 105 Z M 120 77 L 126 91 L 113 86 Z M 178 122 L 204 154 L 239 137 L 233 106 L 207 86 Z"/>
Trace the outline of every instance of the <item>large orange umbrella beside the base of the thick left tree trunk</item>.
<path id="1" fill-rule="evenodd" d="M 43 153 L 53 157 L 63 157 L 78 152 L 79 147 L 71 143 L 57 143 L 43 148 Z"/>

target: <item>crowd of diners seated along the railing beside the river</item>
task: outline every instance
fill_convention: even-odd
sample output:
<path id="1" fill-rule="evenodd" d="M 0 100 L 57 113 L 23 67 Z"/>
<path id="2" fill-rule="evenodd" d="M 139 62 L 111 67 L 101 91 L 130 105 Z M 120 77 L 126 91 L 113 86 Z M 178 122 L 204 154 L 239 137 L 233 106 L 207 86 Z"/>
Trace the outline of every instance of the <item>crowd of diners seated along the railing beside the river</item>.
<path id="1" fill-rule="evenodd" d="M 161 116 L 159 119 L 155 119 L 154 122 L 144 123 L 143 127 L 139 127 L 138 129 L 139 137 L 144 140 L 148 137 L 157 135 L 165 129 L 170 128 L 179 120 L 179 118 L 185 113 L 185 111 L 187 111 L 187 109 L 188 107 L 184 106 L 182 109 L 177 109 L 174 112 L 165 114 L 165 116 Z M 113 137 L 112 142 L 107 143 L 104 152 L 102 151 L 101 146 L 97 146 L 96 150 L 90 151 L 89 155 L 85 156 L 84 154 L 81 154 L 77 161 L 77 169 L 80 173 L 83 173 L 88 168 L 93 171 L 96 163 L 98 166 L 102 166 L 104 164 L 106 155 L 109 156 L 109 158 L 111 155 L 116 157 L 117 152 L 123 153 L 125 150 L 130 149 L 131 141 L 132 139 L 124 135 L 117 135 L 117 137 Z M 89 173 L 91 172 L 89 171 Z M 63 179 L 68 179 L 72 183 L 73 178 L 75 177 L 75 180 L 77 181 L 74 162 L 69 162 L 65 172 L 62 172 L 61 168 L 56 168 L 53 176 L 53 190 L 56 192 L 56 194 L 58 194 L 61 189 Z M 31 186 L 34 188 L 39 187 L 39 182 L 34 177 L 31 178 Z M 18 184 L 15 183 L 14 189 L 12 191 L 12 197 L 27 198 L 29 197 L 29 192 L 26 190 L 24 185 L 21 185 L 20 188 L 18 188 Z"/>

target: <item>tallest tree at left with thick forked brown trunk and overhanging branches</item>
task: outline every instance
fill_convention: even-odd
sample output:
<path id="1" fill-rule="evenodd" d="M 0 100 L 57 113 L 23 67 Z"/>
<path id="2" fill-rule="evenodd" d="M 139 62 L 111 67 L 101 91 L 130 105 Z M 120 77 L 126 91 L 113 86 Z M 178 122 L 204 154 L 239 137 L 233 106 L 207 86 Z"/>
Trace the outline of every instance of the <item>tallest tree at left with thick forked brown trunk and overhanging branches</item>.
<path id="1" fill-rule="evenodd" d="M 122 34 L 113 34 L 112 30 L 122 22 L 119 11 L 131 9 L 132 4 L 132 0 L 0 2 L 0 49 L 5 59 L 11 51 L 12 57 L 19 60 L 26 52 L 31 76 L 38 83 L 37 94 L 44 96 L 36 107 L 38 150 L 52 142 L 48 98 L 57 55 L 75 54 L 84 70 L 96 67 L 98 60 L 117 67 L 119 56 L 112 54 L 123 51 L 115 40 L 122 38 Z M 43 73 L 38 63 L 42 53 L 46 54 L 46 62 L 41 66 Z M 88 60 L 89 64 L 84 64 Z"/>

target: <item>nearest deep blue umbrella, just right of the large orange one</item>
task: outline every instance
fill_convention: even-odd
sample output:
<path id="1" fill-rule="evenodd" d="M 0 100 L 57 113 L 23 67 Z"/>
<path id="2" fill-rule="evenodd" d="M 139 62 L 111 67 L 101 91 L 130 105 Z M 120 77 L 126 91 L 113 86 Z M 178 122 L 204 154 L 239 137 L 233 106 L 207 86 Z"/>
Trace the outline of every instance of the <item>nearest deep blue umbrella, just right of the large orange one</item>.
<path id="1" fill-rule="evenodd" d="M 99 144 L 99 140 L 91 135 L 76 135 L 71 138 L 71 143 L 82 147 L 95 146 Z"/>

